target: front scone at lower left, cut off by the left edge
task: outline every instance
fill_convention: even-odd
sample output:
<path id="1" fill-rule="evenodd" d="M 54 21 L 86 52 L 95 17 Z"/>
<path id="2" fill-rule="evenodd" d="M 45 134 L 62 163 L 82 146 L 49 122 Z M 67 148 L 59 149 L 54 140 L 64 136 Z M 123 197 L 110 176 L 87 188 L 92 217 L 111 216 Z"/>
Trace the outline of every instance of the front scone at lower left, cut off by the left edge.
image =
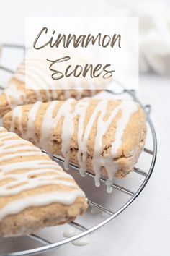
<path id="1" fill-rule="evenodd" d="M 86 207 L 84 192 L 58 163 L 0 127 L 0 236 L 72 221 Z"/>

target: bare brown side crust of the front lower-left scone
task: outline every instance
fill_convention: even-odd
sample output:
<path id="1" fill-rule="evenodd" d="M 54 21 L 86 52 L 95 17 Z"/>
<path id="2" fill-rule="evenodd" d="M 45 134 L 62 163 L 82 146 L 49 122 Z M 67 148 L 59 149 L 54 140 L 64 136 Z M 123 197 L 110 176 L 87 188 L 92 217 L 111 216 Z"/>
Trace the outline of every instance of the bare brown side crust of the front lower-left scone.
<path id="1" fill-rule="evenodd" d="M 7 216 L 0 223 L 0 236 L 23 236 L 48 226 L 61 225 L 73 221 L 86 210 L 86 200 L 78 197 L 72 205 L 51 205 L 27 208 L 14 216 Z"/>

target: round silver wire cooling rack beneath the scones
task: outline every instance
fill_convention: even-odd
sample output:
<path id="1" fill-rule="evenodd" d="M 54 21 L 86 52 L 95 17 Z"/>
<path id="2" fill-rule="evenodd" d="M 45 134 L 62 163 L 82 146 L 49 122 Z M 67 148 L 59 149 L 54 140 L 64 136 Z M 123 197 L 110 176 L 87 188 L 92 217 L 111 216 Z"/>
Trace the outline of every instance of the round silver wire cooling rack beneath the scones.
<path id="1" fill-rule="evenodd" d="M 3 47 L 24 49 L 23 46 L 13 45 L 4 45 Z M 0 69 L 12 73 L 12 70 L 7 67 L 0 66 Z M 0 90 L 1 89 L 0 85 Z M 106 93 L 109 97 L 131 98 L 133 101 L 140 103 L 133 90 L 122 89 L 118 92 L 107 90 Z M 140 155 L 134 170 L 124 179 L 115 180 L 113 182 L 112 194 L 107 194 L 104 179 L 100 179 L 101 186 L 96 188 L 94 187 L 93 174 L 86 171 L 86 177 L 81 178 L 79 175 L 79 167 L 70 164 L 71 175 L 76 179 L 76 182 L 79 183 L 80 187 L 84 189 L 84 192 L 87 195 L 89 210 L 87 210 L 84 216 L 77 218 L 76 221 L 72 221 L 71 223 L 67 223 L 60 227 L 46 228 L 37 234 L 30 234 L 29 236 L 19 238 L 1 238 L 0 256 L 37 255 L 41 252 L 56 249 L 57 247 L 67 244 L 68 242 L 73 242 L 76 239 L 81 239 L 82 236 L 91 234 L 109 223 L 109 221 L 122 213 L 122 211 L 125 210 L 136 197 L 138 197 L 151 177 L 157 151 L 156 132 L 150 118 L 151 106 L 143 106 L 141 103 L 140 106 L 142 106 L 147 116 L 148 135 L 146 139 L 146 148 L 143 149 L 143 153 Z M 54 157 L 54 160 L 61 164 L 61 166 L 63 165 L 62 159 Z M 97 216 L 92 214 L 93 209 L 97 210 Z M 63 231 L 68 226 L 73 226 L 77 233 L 72 237 L 64 239 Z"/>

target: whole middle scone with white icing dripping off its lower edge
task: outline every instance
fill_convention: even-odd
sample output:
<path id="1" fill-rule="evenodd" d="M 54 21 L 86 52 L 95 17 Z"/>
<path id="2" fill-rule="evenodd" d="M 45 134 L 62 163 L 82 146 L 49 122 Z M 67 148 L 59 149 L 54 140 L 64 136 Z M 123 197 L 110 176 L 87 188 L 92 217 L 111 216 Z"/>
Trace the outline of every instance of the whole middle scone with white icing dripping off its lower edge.
<path id="1" fill-rule="evenodd" d="M 146 116 L 134 101 L 84 98 L 37 102 L 4 116 L 4 127 L 50 154 L 79 164 L 80 172 L 122 178 L 138 160 L 146 139 Z"/>

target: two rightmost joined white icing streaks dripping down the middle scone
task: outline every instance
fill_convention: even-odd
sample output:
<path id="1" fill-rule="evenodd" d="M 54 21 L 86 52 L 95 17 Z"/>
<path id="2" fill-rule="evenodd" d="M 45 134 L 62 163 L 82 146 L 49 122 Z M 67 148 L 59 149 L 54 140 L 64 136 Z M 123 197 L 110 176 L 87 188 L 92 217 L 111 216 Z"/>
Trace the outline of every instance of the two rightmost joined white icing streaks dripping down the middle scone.
<path id="1" fill-rule="evenodd" d="M 133 101 L 122 101 L 112 114 L 110 114 L 109 119 L 104 121 L 104 116 L 107 114 L 107 103 L 108 101 L 101 101 L 94 111 L 98 114 L 101 113 L 97 121 L 97 135 L 94 142 L 94 157 L 92 159 L 94 169 L 96 170 L 95 182 L 96 186 L 99 187 L 99 178 L 100 178 L 100 169 L 104 167 L 107 170 L 109 181 L 107 181 L 107 192 L 112 192 L 112 179 L 115 172 L 118 169 L 117 164 L 113 161 L 117 157 L 117 150 L 122 144 L 122 135 L 128 124 L 130 116 L 138 111 L 138 106 Z M 109 158 L 104 158 L 102 156 L 102 138 L 107 133 L 109 126 L 112 124 L 112 121 L 115 119 L 119 111 L 122 112 L 122 117 L 117 122 L 117 128 L 115 131 L 115 140 L 112 142 L 111 154 Z"/>

